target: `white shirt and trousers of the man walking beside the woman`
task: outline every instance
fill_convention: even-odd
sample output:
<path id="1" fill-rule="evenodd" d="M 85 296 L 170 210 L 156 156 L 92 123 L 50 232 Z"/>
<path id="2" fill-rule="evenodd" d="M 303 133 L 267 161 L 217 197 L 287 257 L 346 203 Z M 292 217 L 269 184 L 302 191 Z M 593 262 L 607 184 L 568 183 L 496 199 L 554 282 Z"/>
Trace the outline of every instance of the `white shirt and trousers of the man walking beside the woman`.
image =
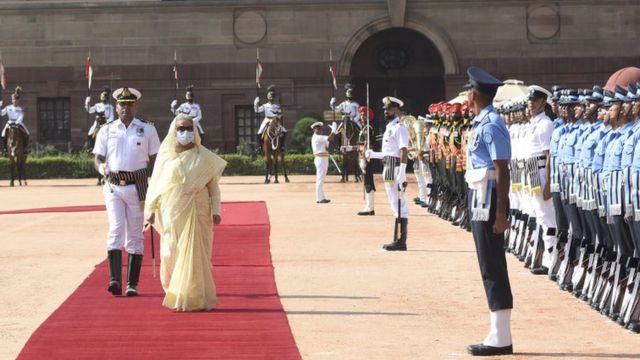
<path id="1" fill-rule="evenodd" d="M 146 168 L 149 157 L 158 153 L 160 139 L 153 125 L 134 118 L 129 127 L 115 120 L 103 126 L 96 137 L 93 153 L 106 159 L 108 173 Z M 111 191 L 113 190 L 113 191 Z M 110 185 L 103 188 L 109 234 L 107 251 L 122 250 L 129 254 L 144 253 L 144 215 L 136 186 Z"/>

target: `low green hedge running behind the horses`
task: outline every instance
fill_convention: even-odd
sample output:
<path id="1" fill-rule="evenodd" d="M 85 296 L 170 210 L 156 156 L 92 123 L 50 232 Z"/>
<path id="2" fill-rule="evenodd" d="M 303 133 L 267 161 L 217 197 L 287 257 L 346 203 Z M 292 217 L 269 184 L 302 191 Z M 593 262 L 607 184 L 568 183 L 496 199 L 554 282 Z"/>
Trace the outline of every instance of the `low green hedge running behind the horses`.
<path id="1" fill-rule="evenodd" d="M 264 175 L 262 157 L 253 159 L 247 155 L 222 154 L 228 164 L 225 175 Z M 341 164 L 341 156 L 334 155 Z M 316 173 L 311 154 L 289 154 L 286 156 L 287 171 L 292 175 L 313 175 Z M 282 170 L 279 171 L 282 174 Z M 329 174 L 335 175 L 335 166 L 329 165 Z M 93 168 L 93 158 L 87 154 L 65 154 L 58 156 L 29 157 L 27 159 L 27 179 L 90 178 L 97 176 Z M 10 177 L 9 160 L 0 158 L 0 179 Z"/>

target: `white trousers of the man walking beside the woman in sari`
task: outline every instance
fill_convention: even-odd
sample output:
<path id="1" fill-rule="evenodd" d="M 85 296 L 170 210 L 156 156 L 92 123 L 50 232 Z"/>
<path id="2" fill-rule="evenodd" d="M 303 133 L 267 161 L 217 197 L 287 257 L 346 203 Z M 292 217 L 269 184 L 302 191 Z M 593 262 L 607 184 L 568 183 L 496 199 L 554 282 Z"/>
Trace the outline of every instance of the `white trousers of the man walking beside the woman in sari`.
<path id="1" fill-rule="evenodd" d="M 122 250 L 129 254 L 144 253 L 144 214 L 138 200 L 135 185 L 117 186 L 106 184 L 103 188 L 104 202 L 109 217 L 107 251 Z"/>

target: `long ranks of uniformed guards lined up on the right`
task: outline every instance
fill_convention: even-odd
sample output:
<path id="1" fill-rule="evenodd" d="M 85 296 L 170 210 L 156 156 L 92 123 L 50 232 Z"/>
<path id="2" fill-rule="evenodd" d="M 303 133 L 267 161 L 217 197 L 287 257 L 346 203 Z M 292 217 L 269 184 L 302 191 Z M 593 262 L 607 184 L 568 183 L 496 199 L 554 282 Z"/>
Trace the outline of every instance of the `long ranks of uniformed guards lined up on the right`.
<path id="1" fill-rule="evenodd" d="M 533 274 L 547 275 L 562 290 L 640 332 L 640 82 L 611 91 L 597 85 L 528 90 L 527 96 L 495 108 L 509 142 L 518 144 L 505 156 L 509 226 L 502 245 Z M 456 199 L 462 193 L 458 185 L 469 186 L 476 177 L 469 167 L 477 144 L 495 141 L 493 134 L 478 140 L 481 135 L 473 129 L 484 120 L 478 119 L 482 113 L 473 114 L 473 106 L 465 110 L 465 104 L 429 107 L 433 123 L 426 159 L 433 182 L 426 203 L 416 203 L 447 220 L 457 217 L 453 209 L 467 213 L 479 200 L 469 198 L 467 206 Z M 458 141 L 458 133 L 468 136 Z M 466 172 L 466 183 L 457 182 L 454 169 Z M 487 215 L 493 218 L 485 211 L 468 215 L 474 237 L 473 223 Z M 503 351 L 495 348 L 488 351 Z M 470 352 L 486 350 L 478 349 Z"/>

